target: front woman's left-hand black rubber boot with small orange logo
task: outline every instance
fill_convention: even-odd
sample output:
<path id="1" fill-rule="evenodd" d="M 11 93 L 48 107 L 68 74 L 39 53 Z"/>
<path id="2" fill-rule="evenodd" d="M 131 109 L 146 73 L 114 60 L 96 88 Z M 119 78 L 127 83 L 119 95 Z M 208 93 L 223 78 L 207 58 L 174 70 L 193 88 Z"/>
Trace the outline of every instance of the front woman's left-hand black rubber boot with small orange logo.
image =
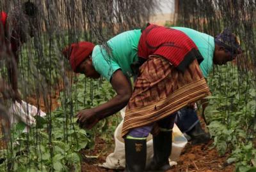
<path id="1" fill-rule="evenodd" d="M 143 172 L 147 159 L 147 140 L 125 139 L 125 172 Z"/>

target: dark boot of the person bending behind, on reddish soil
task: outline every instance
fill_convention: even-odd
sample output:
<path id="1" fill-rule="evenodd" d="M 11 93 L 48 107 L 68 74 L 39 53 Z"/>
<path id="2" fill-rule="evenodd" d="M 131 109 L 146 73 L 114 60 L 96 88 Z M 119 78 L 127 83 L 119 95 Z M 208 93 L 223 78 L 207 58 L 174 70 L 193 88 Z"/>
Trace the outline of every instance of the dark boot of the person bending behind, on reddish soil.
<path id="1" fill-rule="evenodd" d="M 201 127 L 200 122 L 198 122 L 190 131 L 186 132 L 186 134 L 190 136 L 192 145 L 207 143 L 211 140 L 210 134 L 205 133 L 204 129 Z"/>

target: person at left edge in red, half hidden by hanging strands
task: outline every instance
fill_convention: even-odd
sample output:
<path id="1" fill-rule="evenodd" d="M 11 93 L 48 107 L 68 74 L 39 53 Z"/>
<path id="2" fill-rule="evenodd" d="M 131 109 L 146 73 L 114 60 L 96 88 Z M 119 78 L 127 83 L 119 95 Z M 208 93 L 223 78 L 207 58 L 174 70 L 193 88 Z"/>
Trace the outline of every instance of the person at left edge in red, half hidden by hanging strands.
<path id="1" fill-rule="evenodd" d="M 8 76 L 12 85 L 12 99 L 21 103 L 18 91 L 19 49 L 29 37 L 33 37 L 38 20 L 37 8 L 34 3 L 27 1 L 21 7 L 15 7 L 12 15 L 0 13 L 0 60 L 6 61 Z"/>

